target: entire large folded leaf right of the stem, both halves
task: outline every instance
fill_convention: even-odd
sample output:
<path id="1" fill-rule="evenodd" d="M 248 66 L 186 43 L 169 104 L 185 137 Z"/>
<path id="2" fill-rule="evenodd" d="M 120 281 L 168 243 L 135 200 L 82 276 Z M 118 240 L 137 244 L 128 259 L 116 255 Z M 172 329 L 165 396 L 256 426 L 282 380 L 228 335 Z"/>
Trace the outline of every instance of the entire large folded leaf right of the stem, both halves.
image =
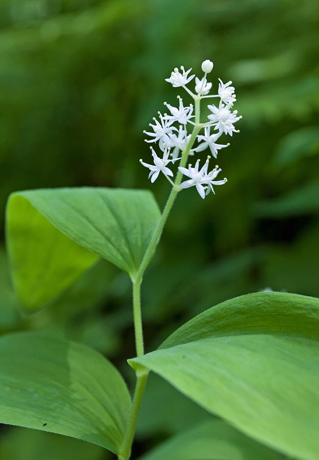
<path id="1" fill-rule="evenodd" d="M 318 318 L 316 298 L 244 295 L 198 315 L 159 350 L 129 362 L 156 372 L 257 441 L 316 460 Z"/>

